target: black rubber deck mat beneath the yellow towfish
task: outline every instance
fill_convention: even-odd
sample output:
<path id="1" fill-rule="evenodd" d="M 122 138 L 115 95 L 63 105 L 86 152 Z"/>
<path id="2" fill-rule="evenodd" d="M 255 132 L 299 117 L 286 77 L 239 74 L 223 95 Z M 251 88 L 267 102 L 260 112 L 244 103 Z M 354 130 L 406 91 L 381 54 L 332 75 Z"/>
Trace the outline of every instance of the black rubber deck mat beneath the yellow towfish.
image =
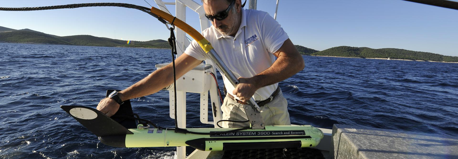
<path id="1" fill-rule="evenodd" d="M 321 150 L 311 148 L 246 149 L 224 151 L 222 159 L 325 159 Z"/>

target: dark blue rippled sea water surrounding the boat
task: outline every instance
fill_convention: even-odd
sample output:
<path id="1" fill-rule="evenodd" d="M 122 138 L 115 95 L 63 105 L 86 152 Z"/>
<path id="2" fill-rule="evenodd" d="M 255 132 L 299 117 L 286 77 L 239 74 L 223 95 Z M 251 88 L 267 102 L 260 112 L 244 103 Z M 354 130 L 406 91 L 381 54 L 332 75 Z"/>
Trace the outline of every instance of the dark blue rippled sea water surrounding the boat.
<path id="1" fill-rule="evenodd" d="M 0 158 L 174 158 L 174 148 L 101 144 L 60 109 L 95 108 L 107 89 L 129 87 L 170 62 L 170 50 L 0 43 L 0 54 Z M 458 136 L 457 63 L 303 57 L 305 69 L 280 83 L 293 124 Z M 199 96 L 187 97 L 187 127 L 211 127 L 196 120 Z M 172 128 L 168 101 L 161 91 L 131 103 L 142 118 Z"/>

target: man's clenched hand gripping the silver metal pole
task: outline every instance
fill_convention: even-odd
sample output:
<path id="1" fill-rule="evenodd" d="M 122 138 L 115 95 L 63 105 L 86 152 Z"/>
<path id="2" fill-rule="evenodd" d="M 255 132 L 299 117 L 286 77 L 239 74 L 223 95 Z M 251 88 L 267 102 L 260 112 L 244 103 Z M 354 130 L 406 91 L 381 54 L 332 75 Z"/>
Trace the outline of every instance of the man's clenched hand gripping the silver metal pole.
<path id="1" fill-rule="evenodd" d="M 232 93 L 239 97 L 240 101 L 246 103 L 258 89 L 259 87 L 256 86 L 256 82 L 252 78 L 239 77 L 239 84 L 237 84 Z"/>

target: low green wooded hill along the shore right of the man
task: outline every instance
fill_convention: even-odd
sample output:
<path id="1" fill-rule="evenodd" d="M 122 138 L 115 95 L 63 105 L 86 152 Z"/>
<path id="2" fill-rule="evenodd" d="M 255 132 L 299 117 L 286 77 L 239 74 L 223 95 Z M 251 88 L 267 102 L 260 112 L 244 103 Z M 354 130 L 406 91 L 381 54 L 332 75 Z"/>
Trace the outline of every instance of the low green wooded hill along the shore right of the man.
<path id="1" fill-rule="evenodd" d="M 369 47 L 338 46 L 311 54 L 312 56 L 339 56 L 361 58 L 391 58 L 437 62 L 458 62 L 457 56 L 444 56 L 431 52 L 410 51 L 395 48 L 372 49 Z"/>

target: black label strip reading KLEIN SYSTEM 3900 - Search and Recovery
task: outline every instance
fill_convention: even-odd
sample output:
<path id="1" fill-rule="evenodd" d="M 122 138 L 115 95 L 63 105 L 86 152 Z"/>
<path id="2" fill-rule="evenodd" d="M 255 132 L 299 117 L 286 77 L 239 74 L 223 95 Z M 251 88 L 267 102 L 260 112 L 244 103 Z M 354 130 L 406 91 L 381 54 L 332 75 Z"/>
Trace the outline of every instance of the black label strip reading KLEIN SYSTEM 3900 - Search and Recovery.
<path id="1" fill-rule="evenodd" d="M 218 133 L 212 131 L 210 133 Z M 240 131 L 231 133 L 220 133 L 210 135 L 210 137 L 246 137 L 246 136 L 289 136 L 289 135 L 305 135 L 304 130 L 283 130 L 283 131 Z"/>

